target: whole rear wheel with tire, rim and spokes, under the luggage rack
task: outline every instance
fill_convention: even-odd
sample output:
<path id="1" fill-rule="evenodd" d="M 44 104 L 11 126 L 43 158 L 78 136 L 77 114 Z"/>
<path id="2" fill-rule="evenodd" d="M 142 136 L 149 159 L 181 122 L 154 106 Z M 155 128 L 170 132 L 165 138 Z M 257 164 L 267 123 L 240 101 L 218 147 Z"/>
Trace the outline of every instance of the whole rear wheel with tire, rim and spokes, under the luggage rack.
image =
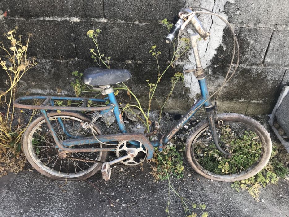
<path id="1" fill-rule="evenodd" d="M 90 120 L 80 114 L 48 113 L 48 117 L 60 141 L 93 136 L 91 129 L 82 128 L 82 124 Z M 95 135 L 101 135 L 97 126 L 93 126 L 93 131 Z M 85 144 L 70 148 L 92 147 L 102 148 L 104 145 Z M 63 158 L 59 155 L 58 149 L 43 116 L 38 117 L 28 126 L 23 139 L 25 156 L 38 172 L 50 178 L 86 179 L 101 169 L 101 162 L 104 162 L 107 157 L 107 152 L 77 152 L 67 153 Z"/>

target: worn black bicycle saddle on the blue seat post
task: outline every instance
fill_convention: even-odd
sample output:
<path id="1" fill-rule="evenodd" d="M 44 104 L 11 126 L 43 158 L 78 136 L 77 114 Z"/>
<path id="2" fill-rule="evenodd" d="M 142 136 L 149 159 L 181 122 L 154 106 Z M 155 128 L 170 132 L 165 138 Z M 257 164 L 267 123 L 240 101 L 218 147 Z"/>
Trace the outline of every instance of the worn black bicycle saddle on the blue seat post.
<path id="1" fill-rule="evenodd" d="M 127 81 L 131 73 L 127 69 L 88 68 L 84 70 L 83 82 L 92 86 L 112 85 Z"/>

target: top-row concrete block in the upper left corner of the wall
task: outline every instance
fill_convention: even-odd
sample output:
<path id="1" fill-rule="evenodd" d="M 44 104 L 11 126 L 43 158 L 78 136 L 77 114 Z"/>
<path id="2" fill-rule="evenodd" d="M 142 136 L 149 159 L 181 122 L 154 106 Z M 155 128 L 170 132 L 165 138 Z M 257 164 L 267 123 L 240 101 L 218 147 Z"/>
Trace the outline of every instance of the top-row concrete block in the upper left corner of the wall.
<path id="1" fill-rule="evenodd" d="M 102 0 L 18 1 L 2 0 L 0 10 L 8 17 L 103 17 Z"/>

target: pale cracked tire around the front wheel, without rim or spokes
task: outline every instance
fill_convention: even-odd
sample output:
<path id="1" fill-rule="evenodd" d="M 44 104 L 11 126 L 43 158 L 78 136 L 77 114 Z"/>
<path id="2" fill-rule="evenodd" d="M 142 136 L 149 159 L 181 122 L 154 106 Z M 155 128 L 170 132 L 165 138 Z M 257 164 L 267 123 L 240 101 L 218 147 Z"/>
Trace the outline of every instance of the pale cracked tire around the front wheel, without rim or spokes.
<path id="1" fill-rule="evenodd" d="M 193 143 L 197 139 L 196 136 L 199 135 L 204 129 L 206 129 L 209 126 L 209 122 L 207 120 L 203 120 L 200 122 L 190 133 L 187 141 L 186 141 L 186 157 L 189 162 L 189 164 L 192 166 L 192 168 L 200 175 L 204 176 L 208 179 L 213 179 L 217 181 L 223 181 L 223 182 L 234 182 L 234 181 L 240 181 L 244 179 L 248 179 L 252 177 L 253 175 L 256 175 L 258 172 L 260 172 L 264 166 L 268 163 L 271 152 L 272 152 L 272 142 L 269 133 L 266 131 L 266 129 L 256 120 L 241 115 L 241 114 L 234 114 L 234 113 L 224 113 L 218 115 L 219 120 L 223 120 L 224 122 L 240 122 L 244 123 L 248 126 L 250 126 L 252 129 L 254 129 L 262 141 L 262 150 L 263 154 L 257 163 L 255 167 L 253 167 L 249 171 L 242 171 L 240 174 L 233 174 L 233 175 L 219 175 L 214 174 L 203 167 L 196 161 L 196 158 L 193 156 L 194 153 L 192 153 Z M 216 122 L 216 124 L 218 124 Z"/>

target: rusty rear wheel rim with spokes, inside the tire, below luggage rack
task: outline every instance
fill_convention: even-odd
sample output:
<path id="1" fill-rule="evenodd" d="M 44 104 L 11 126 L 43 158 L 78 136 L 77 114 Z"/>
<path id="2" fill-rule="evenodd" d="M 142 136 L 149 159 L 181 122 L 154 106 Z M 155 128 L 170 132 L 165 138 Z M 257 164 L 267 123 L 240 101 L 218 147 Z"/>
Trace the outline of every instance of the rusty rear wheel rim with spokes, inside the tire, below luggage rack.
<path id="1" fill-rule="evenodd" d="M 92 136 L 90 129 L 84 130 L 82 128 L 81 123 L 84 123 L 84 121 L 80 118 L 59 115 L 49 117 L 58 139 L 71 139 L 65 134 L 58 118 L 61 118 L 68 134 L 80 137 Z M 97 135 L 97 131 L 93 130 Z M 78 145 L 75 148 L 88 148 L 88 146 L 91 148 L 96 148 L 95 146 L 102 147 L 101 144 L 91 144 Z M 78 152 L 68 153 L 67 158 L 60 159 L 57 149 L 45 120 L 37 123 L 28 136 L 28 151 L 33 162 L 45 172 L 61 178 L 77 178 L 93 171 L 99 165 L 93 160 L 100 160 L 102 157 L 102 152 Z"/>

